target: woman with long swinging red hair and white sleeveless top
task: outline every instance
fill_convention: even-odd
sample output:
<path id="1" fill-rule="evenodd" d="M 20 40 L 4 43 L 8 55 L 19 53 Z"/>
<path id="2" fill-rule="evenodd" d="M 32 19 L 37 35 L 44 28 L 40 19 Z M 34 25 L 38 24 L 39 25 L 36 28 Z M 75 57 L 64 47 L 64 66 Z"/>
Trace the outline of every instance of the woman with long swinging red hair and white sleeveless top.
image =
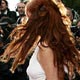
<path id="1" fill-rule="evenodd" d="M 79 53 L 69 32 L 70 20 L 62 2 L 30 0 L 26 6 L 26 24 L 15 28 L 14 39 L 1 56 L 14 58 L 12 72 L 33 52 L 27 73 L 30 80 L 64 80 L 64 67 L 70 78 L 78 67 Z"/>

